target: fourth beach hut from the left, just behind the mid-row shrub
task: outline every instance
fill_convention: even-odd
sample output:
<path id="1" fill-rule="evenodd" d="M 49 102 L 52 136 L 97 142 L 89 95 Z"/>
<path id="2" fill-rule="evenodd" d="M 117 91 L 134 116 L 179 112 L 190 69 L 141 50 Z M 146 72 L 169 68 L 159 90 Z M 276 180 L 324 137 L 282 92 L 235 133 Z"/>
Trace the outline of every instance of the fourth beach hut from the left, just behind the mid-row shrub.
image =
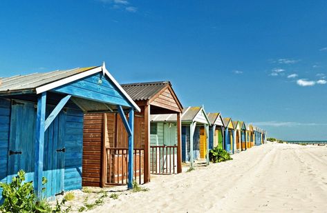
<path id="1" fill-rule="evenodd" d="M 219 112 L 208 113 L 207 116 L 211 124 L 209 126 L 209 150 L 212 150 L 217 145 L 218 148 L 223 149 L 223 117 Z"/>

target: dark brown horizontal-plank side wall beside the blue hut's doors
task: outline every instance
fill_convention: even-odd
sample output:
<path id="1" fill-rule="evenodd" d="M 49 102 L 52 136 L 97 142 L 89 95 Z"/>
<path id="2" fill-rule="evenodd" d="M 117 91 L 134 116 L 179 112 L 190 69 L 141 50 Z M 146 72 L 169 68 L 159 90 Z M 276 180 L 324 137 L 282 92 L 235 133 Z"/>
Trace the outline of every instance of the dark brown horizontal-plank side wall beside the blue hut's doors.
<path id="1" fill-rule="evenodd" d="M 103 116 L 104 114 L 84 115 L 82 183 L 84 186 L 101 185 Z"/>

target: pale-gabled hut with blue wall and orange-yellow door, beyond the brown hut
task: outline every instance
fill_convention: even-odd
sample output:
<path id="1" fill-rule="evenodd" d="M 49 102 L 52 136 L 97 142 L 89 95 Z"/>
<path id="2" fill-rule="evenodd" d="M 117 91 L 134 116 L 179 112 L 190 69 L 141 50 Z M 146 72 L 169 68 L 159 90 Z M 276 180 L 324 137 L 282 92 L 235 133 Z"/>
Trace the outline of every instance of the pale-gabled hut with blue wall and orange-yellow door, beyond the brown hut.
<path id="1" fill-rule="evenodd" d="M 209 125 L 210 121 L 203 107 L 188 107 L 180 117 L 182 122 L 182 160 L 190 162 L 205 159 L 209 164 Z M 153 122 L 176 122 L 176 116 L 161 114 Z"/>

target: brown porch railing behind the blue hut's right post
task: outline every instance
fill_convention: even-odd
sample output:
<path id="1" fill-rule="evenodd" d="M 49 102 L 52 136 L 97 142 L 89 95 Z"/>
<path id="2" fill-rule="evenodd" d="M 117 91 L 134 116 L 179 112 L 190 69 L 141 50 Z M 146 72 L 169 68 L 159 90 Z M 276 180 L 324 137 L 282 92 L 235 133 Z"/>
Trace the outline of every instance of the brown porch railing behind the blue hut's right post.
<path id="1" fill-rule="evenodd" d="M 106 185 L 126 185 L 128 177 L 128 148 L 106 148 Z M 139 184 L 144 183 L 144 149 L 134 149 L 133 176 Z"/>

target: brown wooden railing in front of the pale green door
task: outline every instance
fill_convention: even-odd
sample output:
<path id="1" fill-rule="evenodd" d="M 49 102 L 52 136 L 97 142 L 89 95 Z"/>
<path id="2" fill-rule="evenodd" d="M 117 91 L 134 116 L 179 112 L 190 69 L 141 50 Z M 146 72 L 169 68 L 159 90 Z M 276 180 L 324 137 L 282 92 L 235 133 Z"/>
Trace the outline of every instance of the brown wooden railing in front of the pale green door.
<path id="1" fill-rule="evenodd" d="M 150 146 L 151 174 L 177 174 L 177 145 Z"/>

